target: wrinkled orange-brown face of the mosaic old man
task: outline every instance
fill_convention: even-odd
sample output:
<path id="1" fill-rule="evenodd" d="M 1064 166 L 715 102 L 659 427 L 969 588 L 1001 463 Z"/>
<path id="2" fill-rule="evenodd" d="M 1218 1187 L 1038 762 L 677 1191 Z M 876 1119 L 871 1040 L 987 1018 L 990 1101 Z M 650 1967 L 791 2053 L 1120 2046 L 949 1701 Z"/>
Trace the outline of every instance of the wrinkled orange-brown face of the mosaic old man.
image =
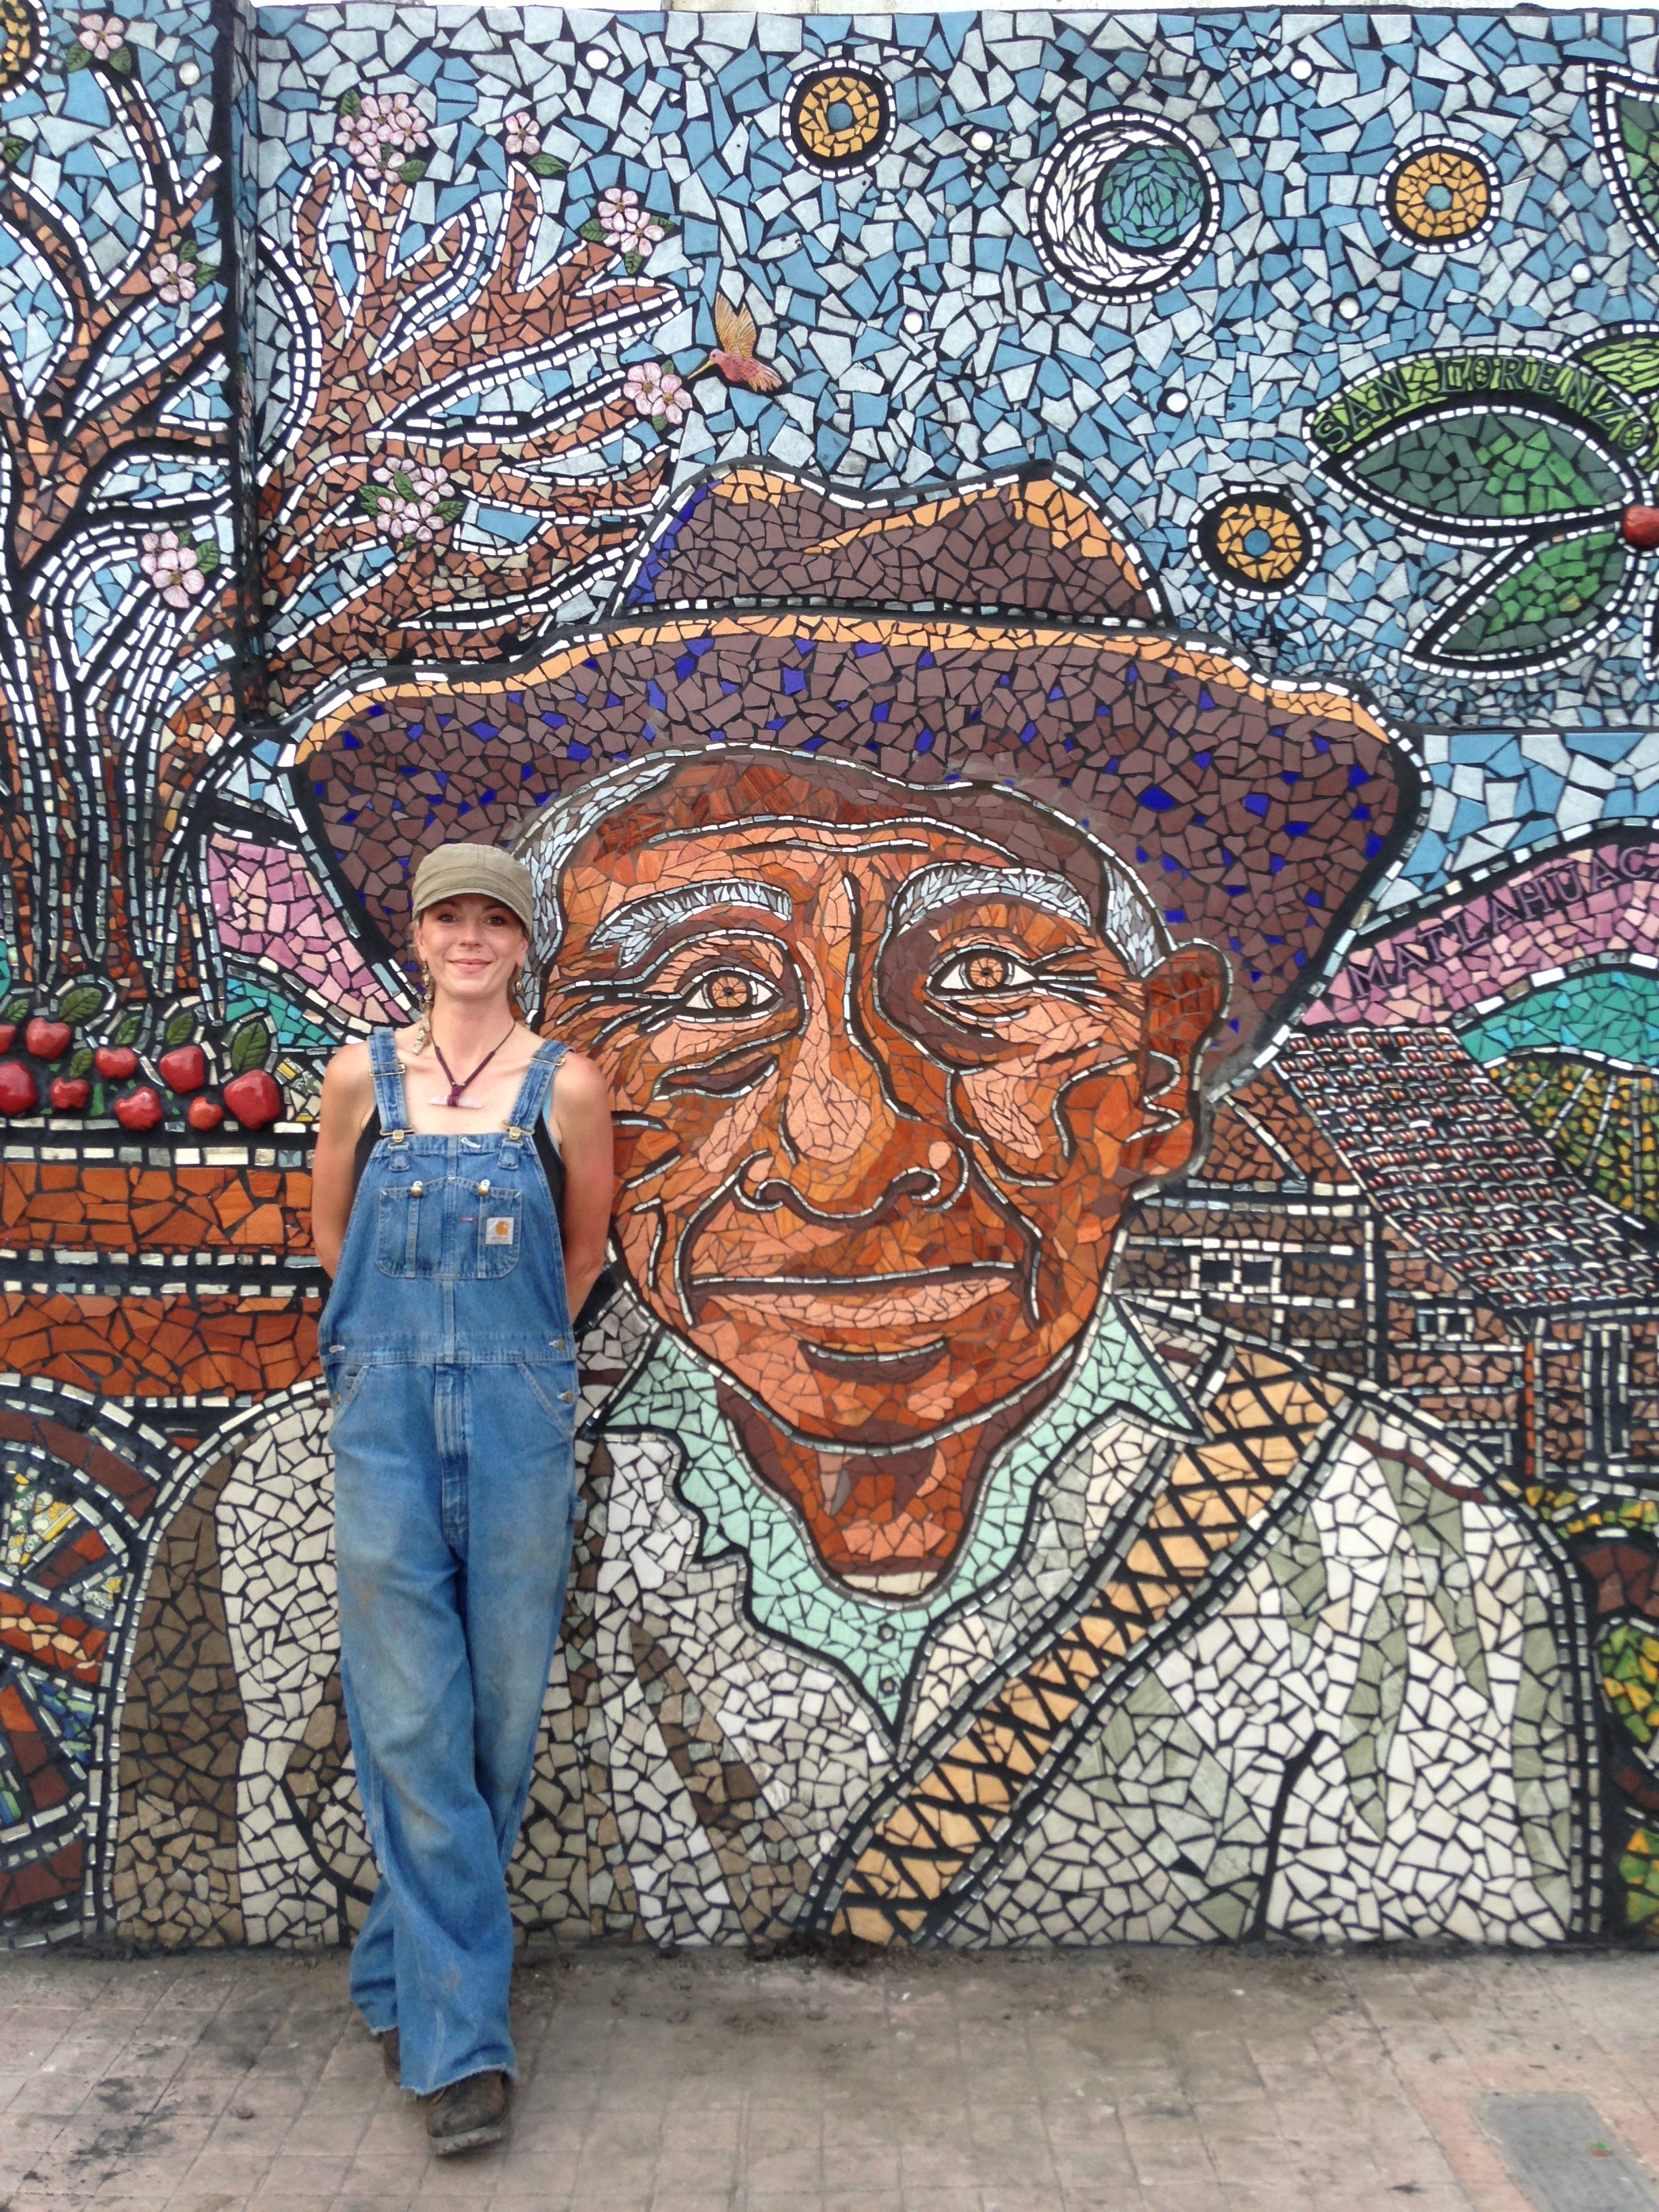
<path id="1" fill-rule="evenodd" d="M 754 759 L 595 830 L 562 905 L 546 1026 L 611 1075 L 617 1234 L 668 1327 L 830 1451 L 1057 1378 L 1126 1192 L 1190 1155 L 1201 947 L 1159 964 L 1144 902 L 1013 799 Z M 801 1504 L 834 1562 L 836 1500 Z"/>

